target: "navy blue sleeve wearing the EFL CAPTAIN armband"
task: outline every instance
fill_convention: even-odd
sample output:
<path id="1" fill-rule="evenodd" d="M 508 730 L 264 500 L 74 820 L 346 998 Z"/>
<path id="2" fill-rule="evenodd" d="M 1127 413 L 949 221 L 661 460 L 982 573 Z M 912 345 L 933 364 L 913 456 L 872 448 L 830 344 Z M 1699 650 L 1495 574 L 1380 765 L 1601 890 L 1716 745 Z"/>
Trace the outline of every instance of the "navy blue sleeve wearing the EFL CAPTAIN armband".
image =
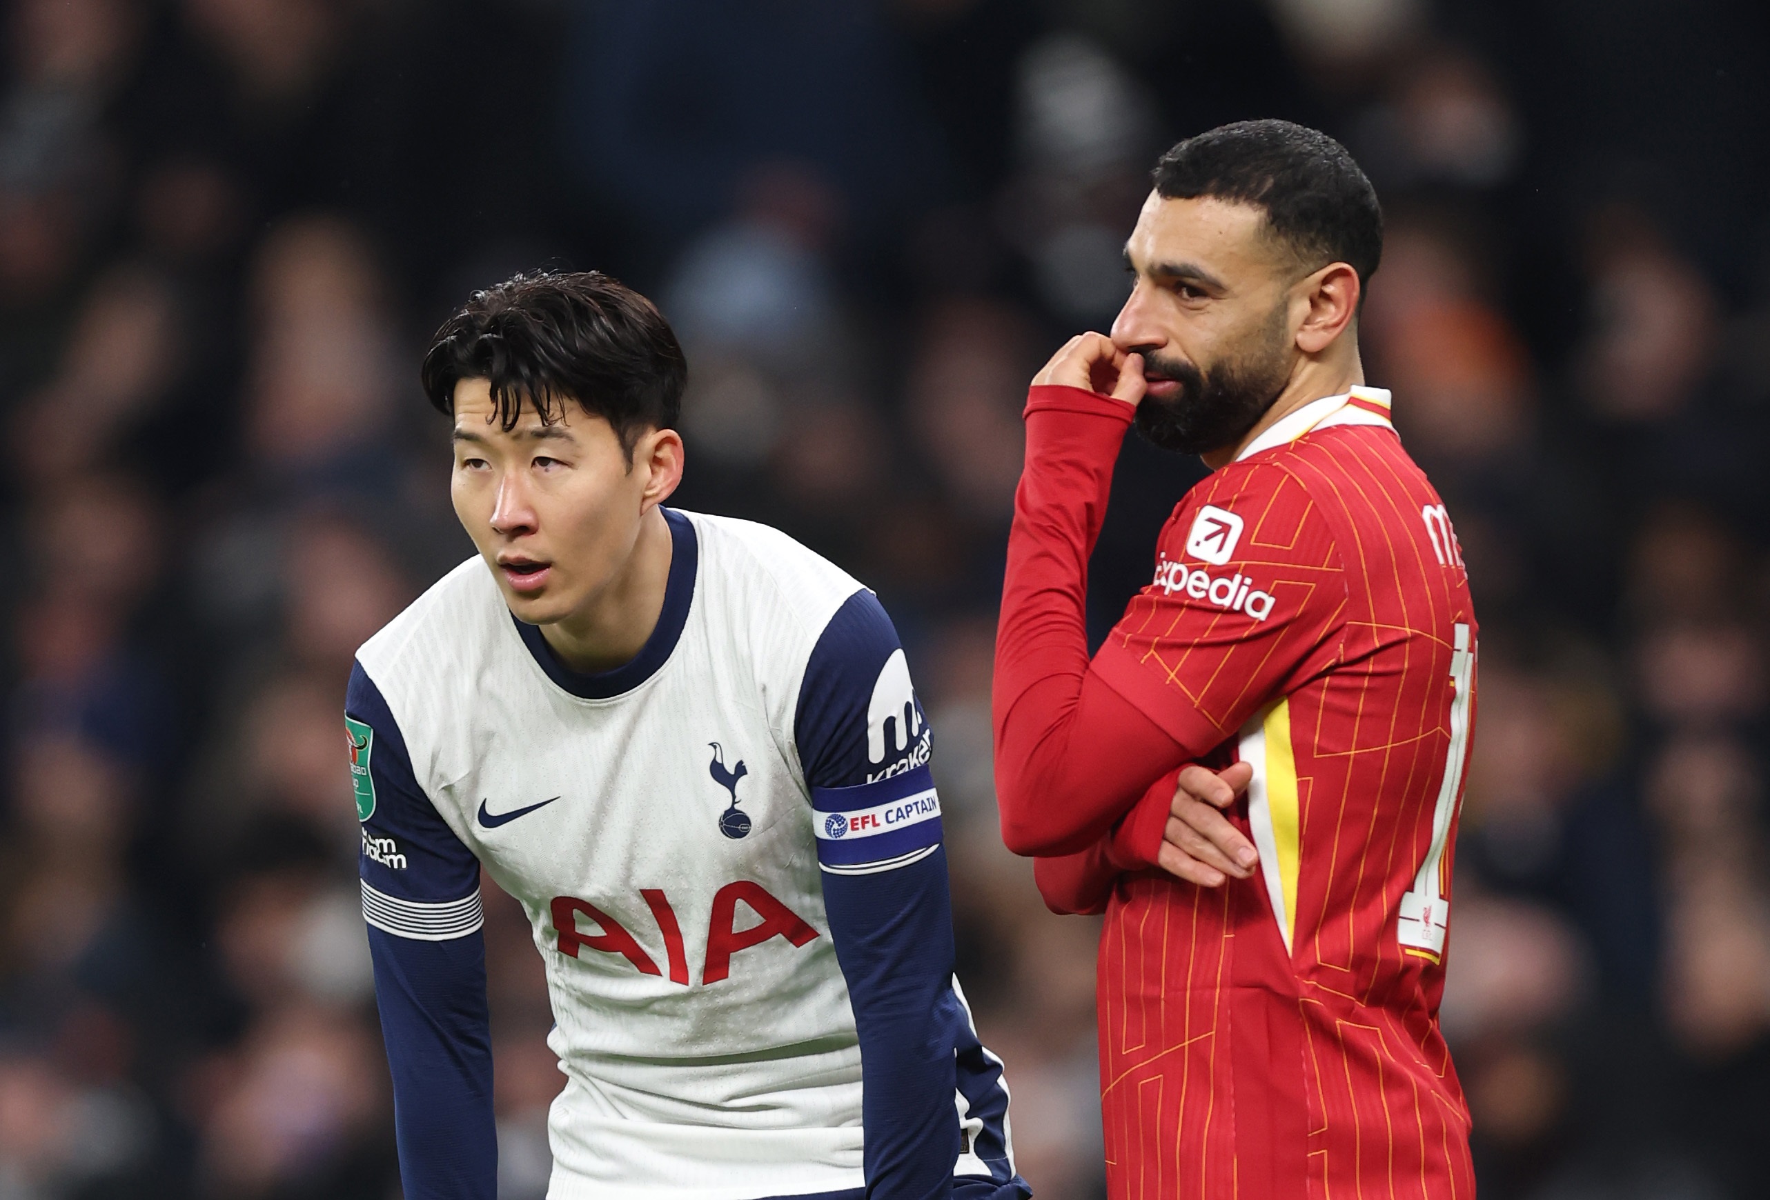
<path id="1" fill-rule="evenodd" d="M 860 1035 L 867 1196 L 1030 1195 L 1009 1161 L 1002 1064 L 979 1044 L 952 977 L 933 731 L 871 591 L 850 596 L 818 639 L 795 742 Z"/>

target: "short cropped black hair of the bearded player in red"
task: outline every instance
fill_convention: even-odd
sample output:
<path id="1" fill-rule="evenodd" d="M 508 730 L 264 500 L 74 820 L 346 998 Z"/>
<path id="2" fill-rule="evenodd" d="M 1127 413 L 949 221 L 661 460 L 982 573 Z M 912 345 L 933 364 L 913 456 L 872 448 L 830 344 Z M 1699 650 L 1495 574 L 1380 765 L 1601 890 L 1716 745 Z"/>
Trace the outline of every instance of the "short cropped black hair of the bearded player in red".
<path id="1" fill-rule="evenodd" d="M 1345 147 L 1289 120 L 1237 120 L 1186 138 L 1156 161 L 1156 191 L 1266 209 L 1271 234 L 1319 271 L 1358 273 L 1359 306 L 1382 260 L 1382 205 Z"/>

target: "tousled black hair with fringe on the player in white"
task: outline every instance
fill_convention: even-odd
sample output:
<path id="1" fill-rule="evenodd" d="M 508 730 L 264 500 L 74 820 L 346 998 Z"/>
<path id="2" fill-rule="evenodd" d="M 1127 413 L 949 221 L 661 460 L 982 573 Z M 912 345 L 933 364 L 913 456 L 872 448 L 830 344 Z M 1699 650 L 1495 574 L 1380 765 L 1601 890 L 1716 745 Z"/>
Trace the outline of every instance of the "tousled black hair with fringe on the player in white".
<path id="1" fill-rule="evenodd" d="M 674 428 L 689 363 L 657 306 L 600 271 L 517 274 L 467 297 L 442 322 L 425 365 L 425 395 L 455 411 L 455 384 L 492 384 L 497 419 L 515 428 L 522 404 L 543 423 L 568 400 L 614 427 L 628 457 L 648 428 Z"/>

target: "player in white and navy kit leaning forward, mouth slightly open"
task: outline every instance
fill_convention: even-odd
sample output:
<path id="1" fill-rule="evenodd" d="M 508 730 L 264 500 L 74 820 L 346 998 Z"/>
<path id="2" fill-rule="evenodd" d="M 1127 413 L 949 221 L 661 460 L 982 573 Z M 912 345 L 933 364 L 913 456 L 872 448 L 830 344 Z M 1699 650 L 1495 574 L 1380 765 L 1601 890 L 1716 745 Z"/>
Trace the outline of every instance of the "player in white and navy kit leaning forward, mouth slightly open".
<path id="1" fill-rule="evenodd" d="M 1020 1200 L 896 630 L 664 508 L 685 375 L 596 273 L 476 292 L 425 356 L 480 554 L 345 703 L 405 1196 L 496 1196 L 483 867 L 547 965 L 550 1200 Z"/>

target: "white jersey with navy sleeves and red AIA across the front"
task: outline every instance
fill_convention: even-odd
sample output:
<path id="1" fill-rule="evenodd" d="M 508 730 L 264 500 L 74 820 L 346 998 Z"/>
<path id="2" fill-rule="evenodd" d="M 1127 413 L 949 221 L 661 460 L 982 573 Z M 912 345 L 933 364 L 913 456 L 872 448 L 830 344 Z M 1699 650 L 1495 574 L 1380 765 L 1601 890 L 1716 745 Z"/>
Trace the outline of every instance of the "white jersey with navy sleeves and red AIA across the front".
<path id="1" fill-rule="evenodd" d="M 453 952 L 434 943 L 478 942 L 471 857 L 520 901 L 547 965 L 549 1044 L 566 1076 L 552 1200 L 844 1193 L 874 1166 L 873 1126 L 926 1142 L 864 1120 L 867 1005 L 843 959 L 866 975 L 881 954 L 940 959 L 929 1019 L 952 1025 L 956 1062 L 945 1170 L 989 1181 L 981 1195 L 1018 1195 L 1000 1064 L 950 977 L 950 927 L 943 947 L 892 949 L 867 908 L 897 873 L 935 867 L 945 904 L 931 735 L 876 600 L 775 529 L 666 515 L 664 612 L 625 667 L 565 667 L 480 558 L 358 653 L 347 724 L 363 912 L 396 1092 L 404 1018 L 389 981 L 402 998 L 421 991 L 409 981 Z M 874 888 L 846 901 L 851 935 L 832 927 L 832 880 Z M 404 1064 L 419 1080 L 442 1055 L 425 1037 Z M 432 1103 L 418 1085 L 407 1096 Z M 402 1124 L 409 1172 L 407 1142 Z"/>

